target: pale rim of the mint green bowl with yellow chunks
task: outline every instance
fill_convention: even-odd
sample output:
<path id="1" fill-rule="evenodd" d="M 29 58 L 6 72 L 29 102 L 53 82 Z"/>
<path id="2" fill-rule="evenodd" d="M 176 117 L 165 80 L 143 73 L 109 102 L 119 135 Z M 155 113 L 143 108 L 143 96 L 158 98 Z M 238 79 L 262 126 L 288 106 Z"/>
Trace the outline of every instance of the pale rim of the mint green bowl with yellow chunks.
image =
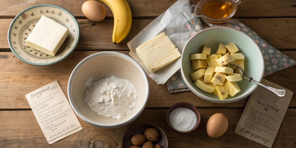
<path id="1" fill-rule="evenodd" d="M 260 76 L 260 79 L 259 79 L 259 82 L 262 80 L 263 78 L 263 74 L 264 74 L 264 70 L 265 70 L 265 62 L 264 62 L 264 59 L 263 59 L 263 54 L 261 52 L 261 49 L 260 47 L 256 44 L 256 42 L 250 37 L 248 36 L 247 34 L 239 31 L 239 30 L 236 30 L 234 28 L 229 28 L 229 27 L 213 27 L 213 28 L 207 28 L 207 29 L 204 29 L 204 30 L 201 30 L 200 32 L 196 33 L 194 36 L 192 36 L 188 41 L 187 43 L 185 44 L 184 48 L 183 48 L 183 51 L 182 51 L 182 55 L 181 55 L 181 75 L 182 75 L 182 78 L 185 82 L 185 84 L 188 86 L 188 88 L 190 89 L 190 91 L 192 91 L 195 95 L 197 95 L 198 97 L 206 100 L 206 101 L 209 101 L 209 102 L 213 102 L 213 103 L 232 103 L 232 102 L 236 102 L 236 101 L 239 101 L 241 99 L 244 99 L 245 97 L 249 96 L 250 94 L 252 94 L 253 91 L 255 91 L 255 89 L 258 87 L 258 85 L 256 84 L 256 86 L 247 94 L 243 95 L 243 96 L 240 96 L 240 97 L 237 97 L 237 98 L 234 98 L 234 99 L 226 99 L 226 100 L 220 100 L 220 99 L 213 99 L 213 98 L 210 98 L 208 96 L 205 96 L 203 94 L 201 94 L 200 92 L 198 92 L 197 90 L 195 90 L 195 88 L 193 86 L 190 85 L 189 81 L 186 79 L 185 77 L 185 74 L 184 74 L 184 71 L 183 71 L 183 56 L 184 56 L 184 51 L 187 47 L 187 45 L 189 44 L 190 41 L 193 40 L 193 38 L 195 38 L 196 36 L 198 36 L 199 34 L 203 33 L 203 32 L 206 32 L 206 31 L 209 31 L 209 30 L 217 30 L 217 29 L 227 29 L 227 30 L 232 30 L 232 31 L 236 31 L 237 33 L 240 33 L 244 36 L 247 36 L 248 38 L 251 39 L 251 41 L 254 43 L 254 45 L 257 46 L 257 49 L 259 50 L 259 53 L 261 55 L 261 62 L 263 64 L 263 71 L 261 73 L 261 76 Z"/>

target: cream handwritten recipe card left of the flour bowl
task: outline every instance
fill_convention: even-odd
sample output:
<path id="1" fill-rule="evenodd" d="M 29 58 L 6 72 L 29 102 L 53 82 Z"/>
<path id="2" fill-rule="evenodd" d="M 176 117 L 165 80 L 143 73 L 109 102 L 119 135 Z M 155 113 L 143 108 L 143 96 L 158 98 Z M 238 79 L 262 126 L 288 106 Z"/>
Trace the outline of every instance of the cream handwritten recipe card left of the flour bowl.
<path id="1" fill-rule="evenodd" d="M 57 81 L 25 96 L 49 144 L 82 130 Z"/>

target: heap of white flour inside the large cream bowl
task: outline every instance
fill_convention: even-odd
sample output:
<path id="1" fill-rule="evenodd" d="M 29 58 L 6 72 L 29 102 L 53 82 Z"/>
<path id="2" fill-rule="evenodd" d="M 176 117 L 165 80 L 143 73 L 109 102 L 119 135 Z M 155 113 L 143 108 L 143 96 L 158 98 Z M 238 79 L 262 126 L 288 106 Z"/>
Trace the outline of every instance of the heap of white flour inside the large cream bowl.
<path id="1" fill-rule="evenodd" d="M 84 101 L 99 115 L 121 119 L 131 112 L 136 104 L 137 91 L 133 84 L 115 76 L 92 83 L 87 81 L 88 90 Z"/>

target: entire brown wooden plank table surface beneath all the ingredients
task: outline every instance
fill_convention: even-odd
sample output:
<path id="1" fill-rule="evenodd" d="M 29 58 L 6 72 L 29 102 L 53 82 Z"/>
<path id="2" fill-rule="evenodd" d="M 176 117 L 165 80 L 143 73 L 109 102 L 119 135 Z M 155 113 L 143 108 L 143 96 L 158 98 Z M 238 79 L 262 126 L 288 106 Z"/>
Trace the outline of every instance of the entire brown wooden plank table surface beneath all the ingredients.
<path id="1" fill-rule="evenodd" d="M 139 33 L 176 0 L 128 0 L 133 22 L 127 38 L 119 45 L 112 44 L 112 13 L 106 8 L 106 19 L 91 22 L 83 16 L 81 6 L 85 0 L 0 0 L 0 147 L 121 147 L 126 129 L 133 124 L 152 122 L 168 136 L 170 148 L 189 147 L 257 147 L 265 146 L 237 135 L 239 122 L 248 97 L 229 104 L 215 104 L 195 96 L 192 92 L 169 94 L 165 85 L 157 85 L 149 78 L 150 96 L 145 110 L 131 124 L 122 128 L 101 129 L 78 118 L 82 131 L 65 139 L 48 144 L 39 127 L 25 94 L 57 80 L 67 96 L 67 82 L 74 67 L 85 57 L 101 51 L 128 54 L 126 43 Z M 194 0 L 197 3 L 198 0 Z M 62 62 L 51 66 L 28 65 L 15 57 L 7 42 L 7 32 L 12 19 L 23 9 L 37 4 L 54 4 L 69 10 L 78 19 L 80 41 L 75 51 Z M 296 59 L 296 1 L 295 0 L 242 0 L 235 17 L 245 23 L 269 44 L 289 57 Z M 296 66 L 265 77 L 296 92 Z M 194 104 L 201 113 L 199 128 L 192 134 L 179 135 L 166 123 L 168 108 L 177 102 Z M 208 118 L 221 112 L 229 120 L 226 133 L 216 139 L 205 131 Z M 281 124 L 273 148 L 296 147 L 296 98 L 293 95 L 289 109 Z"/>

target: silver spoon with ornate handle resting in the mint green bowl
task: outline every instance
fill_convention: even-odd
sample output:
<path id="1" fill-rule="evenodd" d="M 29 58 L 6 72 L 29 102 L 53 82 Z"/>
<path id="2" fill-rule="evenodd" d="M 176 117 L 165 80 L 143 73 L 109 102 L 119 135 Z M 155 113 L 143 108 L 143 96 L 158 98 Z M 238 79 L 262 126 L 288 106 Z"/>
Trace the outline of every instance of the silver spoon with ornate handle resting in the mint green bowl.
<path id="1" fill-rule="evenodd" d="M 244 70 L 242 70 L 242 67 L 240 67 L 239 65 L 234 64 L 234 63 L 229 63 L 228 65 L 235 65 L 235 66 L 237 66 L 237 67 L 241 70 L 241 72 L 242 72 L 241 75 L 242 75 L 242 78 L 243 78 L 243 79 L 247 79 L 249 82 L 254 82 L 254 83 L 256 83 L 256 84 L 258 84 L 258 85 L 260 85 L 260 86 L 263 86 L 263 87 L 265 87 L 266 89 L 272 91 L 273 93 L 275 93 L 276 95 L 278 95 L 278 96 L 280 96 L 280 97 L 284 97 L 284 96 L 286 96 L 287 92 L 286 92 L 285 90 L 283 90 L 283 89 L 275 89 L 275 88 L 273 88 L 273 87 L 270 87 L 270 86 L 264 85 L 264 84 L 262 84 L 262 83 L 259 83 L 259 82 L 255 81 L 255 80 L 253 80 L 252 77 L 250 77 L 250 78 L 246 78 L 246 77 L 244 76 Z"/>

